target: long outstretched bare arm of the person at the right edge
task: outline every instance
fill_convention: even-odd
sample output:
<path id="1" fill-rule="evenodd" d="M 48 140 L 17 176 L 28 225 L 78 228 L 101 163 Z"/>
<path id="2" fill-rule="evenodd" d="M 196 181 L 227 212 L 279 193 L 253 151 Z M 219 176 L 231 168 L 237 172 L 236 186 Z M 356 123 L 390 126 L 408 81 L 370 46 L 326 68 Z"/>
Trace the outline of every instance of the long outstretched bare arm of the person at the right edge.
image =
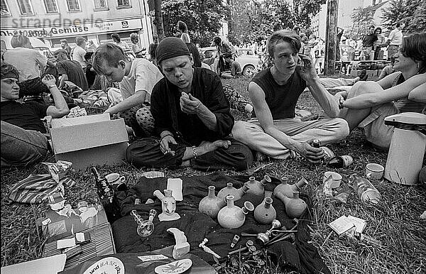
<path id="1" fill-rule="evenodd" d="M 342 106 L 349 109 L 365 109 L 371 106 L 377 106 L 396 99 L 407 98 L 413 89 L 426 83 L 426 74 L 414 75 L 402 84 L 395 87 L 384 89 L 381 92 L 361 94 L 343 102 Z M 415 96 L 415 92 L 412 96 Z"/>

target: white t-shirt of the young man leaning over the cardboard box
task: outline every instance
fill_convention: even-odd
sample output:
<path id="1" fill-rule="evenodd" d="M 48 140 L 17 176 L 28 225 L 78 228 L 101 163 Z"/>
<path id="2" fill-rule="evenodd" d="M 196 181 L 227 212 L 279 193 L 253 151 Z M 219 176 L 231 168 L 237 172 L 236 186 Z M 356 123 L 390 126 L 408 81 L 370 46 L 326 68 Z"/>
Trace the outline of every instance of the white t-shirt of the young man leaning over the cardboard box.
<path id="1" fill-rule="evenodd" d="M 146 91 L 145 102 L 151 103 L 151 93 L 158 81 L 163 79 L 158 67 L 145 58 L 136 58 L 131 62 L 129 75 L 120 82 L 120 91 L 123 99 L 131 97 L 141 90 Z"/>

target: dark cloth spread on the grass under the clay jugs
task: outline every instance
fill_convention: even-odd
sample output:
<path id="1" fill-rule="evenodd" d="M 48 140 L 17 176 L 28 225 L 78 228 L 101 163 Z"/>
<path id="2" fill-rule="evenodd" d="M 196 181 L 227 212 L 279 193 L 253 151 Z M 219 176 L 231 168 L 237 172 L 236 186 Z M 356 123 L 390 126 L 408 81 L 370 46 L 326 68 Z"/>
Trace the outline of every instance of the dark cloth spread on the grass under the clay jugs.
<path id="1" fill-rule="evenodd" d="M 150 209 L 155 209 L 160 214 L 161 204 L 154 197 L 153 192 L 155 190 L 163 192 L 167 186 L 168 178 L 158 177 L 148 179 L 141 177 L 138 184 L 129 190 L 116 192 L 116 197 L 119 197 L 121 216 L 123 216 L 112 224 L 117 253 L 154 251 L 165 248 L 166 246 L 173 246 L 175 239 L 173 234 L 167 232 L 167 229 L 175 227 L 185 232 L 187 241 L 190 243 L 190 253 L 199 256 L 204 261 L 207 261 L 207 263 L 214 264 L 213 256 L 198 247 L 204 238 L 209 240 L 207 243 L 209 248 L 212 248 L 222 258 L 226 258 L 227 253 L 231 251 L 230 243 L 235 234 L 241 235 L 241 232 L 257 234 L 271 228 L 271 225 L 258 224 L 254 220 L 253 213 L 251 213 L 246 216 L 246 222 L 240 228 L 224 229 L 218 224 L 217 220 L 198 211 L 198 204 L 207 195 L 209 185 L 214 185 L 216 191 L 226 187 L 228 182 L 232 182 L 234 187 L 239 188 L 249 177 L 227 177 L 223 172 L 214 172 L 206 176 L 180 178 L 182 179 L 183 201 L 176 202 L 176 212 L 180 214 L 181 218 L 176 221 L 160 222 L 156 217 L 154 219 L 154 232 L 146 239 L 138 236 L 136 233 L 136 221 L 129 214 L 133 209 L 136 209 L 143 219 L 148 219 Z M 279 180 L 273 178 L 273 182 L 266 185 L 266 190 L 273 190 L 279 183 Z M 308 207 L 312 208 L 312 202 L 309 197 L 305 195 L 301 195 L 301 197 L 305 199 Z M 142 203 L 146 202 L 147 199 L 153 199 L 155 202 L 152 204 L 135 205 L 134 201 L 136 198 L 141 199 Z M 256 207 L 263 201 L 263 197 L 245 194 L 235 204 L 238 207 L 242 207 L 246 201 L 252 202 Z M 283 202 L 279 199 L 273 199 L 273 207 L 277 211 L 277 219 L 281 224 L 291 227 L 293 221 L 285 214 Z M 310 211 L 305 212 L 300 218 L 295 244 L 288 241 L 280 241 L 268 247 L 268 253 L 281 268 L 297 270 L 300 273 L 330 273 L 317 252 L 317 248 L 310 243 L 310 233 L 307 227 L 307 224 L 310 222 L 309 219 Z M 241 237 L 239 243 L 232 250 L 239 248 L 239 246 L 244 246 L 247 239 L 256 240 L 255 238 Z M 256 247 L 258 249 L 261 248 L 261 246 Z"/>

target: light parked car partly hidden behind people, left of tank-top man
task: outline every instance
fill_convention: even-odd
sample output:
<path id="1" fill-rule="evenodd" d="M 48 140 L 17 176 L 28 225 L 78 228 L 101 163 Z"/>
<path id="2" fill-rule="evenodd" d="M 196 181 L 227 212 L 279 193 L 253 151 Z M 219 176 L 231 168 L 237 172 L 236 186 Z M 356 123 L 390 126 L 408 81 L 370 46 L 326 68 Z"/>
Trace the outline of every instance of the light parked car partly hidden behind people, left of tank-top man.
<path id="1" fill-rule="evenodd" d="M 204 58 L 211 58 L 216 55 L 216 47 L 201 48 L 201 53 L 204 54 Z M 251 48 L 236 48 L 236 62 L 241 65 L 242 74 L 245 76 L 253 76 L 253 72 L 259 63 L 258 55 L 254 54 L 254 50 Z"/>

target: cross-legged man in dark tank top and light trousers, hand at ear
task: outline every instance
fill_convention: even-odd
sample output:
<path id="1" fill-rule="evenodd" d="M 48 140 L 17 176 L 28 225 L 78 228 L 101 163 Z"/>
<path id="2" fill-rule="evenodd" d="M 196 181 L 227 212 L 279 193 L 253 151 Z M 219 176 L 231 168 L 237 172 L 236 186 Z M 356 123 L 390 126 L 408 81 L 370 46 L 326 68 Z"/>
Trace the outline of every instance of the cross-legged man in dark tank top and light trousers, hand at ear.
<path id="1" fill-rule="evenodd" d="M 267 155 L 286 159 L 298 153 L 312 163 L 319 163 L 324 154 L 321 148 L 311 146 L 314 139 L 326 145 L 349 134 L 344 119 L 301 121 L 295 118 L 297 99 L 305 87 L 310 89 L 327 116 L 339 114 L 337 100 L 322 86 L 312 59 L 300 54 L 299 50 L 298 35 L 291 31 L 275 31 L 268 39 L 273 67 L 258 72 L 249 83 L 253 119 L 236 121 L 232 136 L 260 152 L 256 155 L 259 158 Z M 297 65 L 299 59 L 303 65 Z"/>

